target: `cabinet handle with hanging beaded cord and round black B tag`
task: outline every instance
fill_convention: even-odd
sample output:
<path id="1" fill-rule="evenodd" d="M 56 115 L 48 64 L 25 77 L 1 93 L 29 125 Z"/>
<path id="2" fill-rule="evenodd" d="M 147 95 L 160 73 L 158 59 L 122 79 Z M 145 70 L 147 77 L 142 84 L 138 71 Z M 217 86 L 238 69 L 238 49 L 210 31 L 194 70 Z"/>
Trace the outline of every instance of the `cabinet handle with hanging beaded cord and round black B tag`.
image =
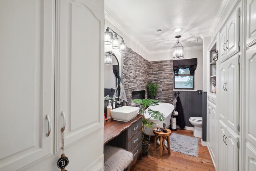
<path id="1" fill-rule="evenodd" d="M 66 127 L 66 117 L 64 112 L 62 111 L 61 113 L 64 117 L 64 127 L 61 128 L 61 132 L 62 132 L 62 155 L 60 157 L 60 159 L 58 159 L 57 161 L 57 166 L 58 168 L 61 169 L 61 171 L 67 171 L 65 168 L 68 166 L 68 157 L 66 157 L 65 153 L 64 153 L 64 130 Z"/>

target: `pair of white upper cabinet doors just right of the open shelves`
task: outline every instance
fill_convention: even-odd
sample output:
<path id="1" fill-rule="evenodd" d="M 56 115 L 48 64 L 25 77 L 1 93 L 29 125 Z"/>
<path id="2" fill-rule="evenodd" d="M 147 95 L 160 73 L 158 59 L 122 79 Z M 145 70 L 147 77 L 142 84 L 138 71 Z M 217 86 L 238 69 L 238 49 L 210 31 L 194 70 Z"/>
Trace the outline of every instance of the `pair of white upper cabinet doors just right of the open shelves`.
<path id="1" fill-rule="evenodd" d="M 227 23 L 220 31 L 220 61 L 230 58 L 240 51 L 240 8 L 230 16 Z"/>

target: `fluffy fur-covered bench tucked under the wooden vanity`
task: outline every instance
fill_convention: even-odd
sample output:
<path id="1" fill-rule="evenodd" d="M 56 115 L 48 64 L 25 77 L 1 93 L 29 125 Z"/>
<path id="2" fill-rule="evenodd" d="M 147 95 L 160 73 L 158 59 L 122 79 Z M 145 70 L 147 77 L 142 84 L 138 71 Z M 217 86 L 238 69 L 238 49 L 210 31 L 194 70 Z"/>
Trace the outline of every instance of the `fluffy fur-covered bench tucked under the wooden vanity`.
<path id="1" fill-rule="evenodd" d="M 104 145 L 104 171 L 123 171 L 132 162 L 131 152 Z"/>

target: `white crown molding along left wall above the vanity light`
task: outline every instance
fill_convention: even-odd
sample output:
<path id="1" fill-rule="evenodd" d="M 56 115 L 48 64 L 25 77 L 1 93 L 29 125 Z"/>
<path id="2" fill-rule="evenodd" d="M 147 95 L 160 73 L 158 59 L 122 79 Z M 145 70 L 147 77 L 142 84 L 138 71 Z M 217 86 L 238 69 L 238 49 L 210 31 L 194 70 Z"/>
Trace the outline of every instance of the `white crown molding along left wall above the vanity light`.
<path id="1" fill-rule="evenodd" d="M 104 10 L 104 12 L 105 12 L 105 20 L 108 20 L 108 22 L 110 22 L 113 26 L 115 26 L 118 30 L 120 30 L 125 36 L 130 38 L 132 42 L 134 42 L 137 46 L 139 46 L 142 50 L 144 50 L 147 54 L 149 54 L 148 49 L 145 46 L 143 46 L 140 43 L 140 41 L 138 41 L 133 35 L 131 35 L 125 28 L 120 26 L 120 24 L 118 24 L 116 20 L 114 20 L 114 18 L 110 14 L 108 14 L 106 10 Z"/>

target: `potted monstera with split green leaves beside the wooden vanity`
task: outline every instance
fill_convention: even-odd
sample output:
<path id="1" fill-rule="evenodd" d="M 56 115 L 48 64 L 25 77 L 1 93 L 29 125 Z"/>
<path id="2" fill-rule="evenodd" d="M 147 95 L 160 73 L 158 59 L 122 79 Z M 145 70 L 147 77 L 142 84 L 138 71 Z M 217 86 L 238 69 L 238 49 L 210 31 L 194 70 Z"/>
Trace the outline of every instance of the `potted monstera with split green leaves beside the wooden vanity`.
<path id="1" fill-rule="evenodd" d="M 154 122 L 149 122 L 148 120 L 153 117 L 154 119 L 157 119 L 159 121 L 164 121 L 165 117 L 164 117 L 164 114 L 161 113 L 160 111 L 155 111 L 155 110 L 148 109 L 148 113 L 150 114 L 150 117 L 145 118 L 144 114 L 146 112 L 145 111 L 146 108 L 148 108 L 149 106 L 158 105 L 158 103 L 161 103 L 161 101 L 159 101 L 159 100 L 155 100 L 155 99 L 133 99 L 132 101 L 135 104 L 142 106 L 140 114 L 143 115 L 143 117 L 142 117 L 142 156 L 143 156 L 143 155 L 147 155 L 148 145 L 149 145 L 149 139 L 147 139 L 145 137 L 145 128 L 146 127 L 151 127 L 152 128 L 152 125 L 155 125 Z"/>

